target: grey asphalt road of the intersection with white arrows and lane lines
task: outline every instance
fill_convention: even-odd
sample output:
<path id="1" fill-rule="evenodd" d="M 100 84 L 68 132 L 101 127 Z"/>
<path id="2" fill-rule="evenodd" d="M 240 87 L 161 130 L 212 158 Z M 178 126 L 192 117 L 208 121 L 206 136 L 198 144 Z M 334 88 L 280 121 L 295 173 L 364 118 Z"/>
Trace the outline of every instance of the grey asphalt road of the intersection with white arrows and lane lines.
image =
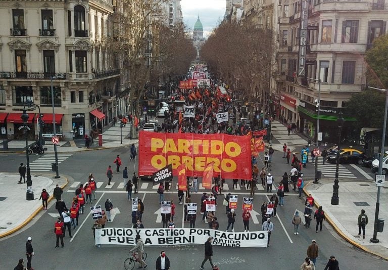
<path id="1" fill-rule="evenodd" d="M 104 182 L 97 192 L 97 200 L 93 204 L 85 205 L 85 214 L 79 218 L 80 225 L 72 231 L 73 239 L 70 242 L 68 234 L 65 238 L 65 248 L 54 248 L 55 235 L 54 223 L 56 221 L 57 211 L 54 203 L 49 205 L 49 209 L 38 215 L 34 221 L 22 230 L 6 239 L 0 240 L 0 249 L 2 250 L 2 260 L 0 264 L 2 269 L 12 269 L 17 260 L 25 258 L 25 242 L 28 236 L 33 239 L 35 256 L 32 260 L 32 266 L 35 269 L 124 269 L 123 261 L 129 255 L 130 246 L 102 245 L 101 248 L 93 247 L 93 235 L 91 226 L 93 220 L 89 214 L 88 207 L 92 205 L 101 205 L 104 207 L 106 199 L 112 200 L 114 208 L 117 208 L 112 222 L 108 222 L 106 227 L 130 227 L 131 225 L 131 203 L 127 200 L 126 192 L 123 188 L 118 188 L 118 183 L 122 182 L 121 173 L 114 173 L 112 182 L 116 184 L 112 188 L 106 188 L 107 178 L 105 176 L 106 168 L 113 164 L 117 154 L 123 159 L 123 165 L 129 167 L 129 175 L 137 167 L 134 161 L 129 160 L 129 148 L 86 151 L 75 153 L 60 164 L 60 174 L 70 176 L 72 182 L 86 182 L 89 172 L 93 172 L 96 182 Z M 275 183 L 281 179 L 284 171 L 289 172 L 290 166 L 285 164 L 281 158 L 282 153 L 274 154 L 272 174 L 275 177 Z M 32 157 L 36 158 L 36 157 Z M 5 160 L 7 159 L 7 160 Z M 13 160 L 9 160 L 13 159 Z M 15 172 L 18 164 L 25 161 L 25 156 L 20 154 L 2 154 L 0 156 L 0 170 Z M 309 164 L 304 169 L 305 178 L 311 178 L 314 175 L 314 168 Z M 357 172 L 355 172 L 357 173 Z M 174 180 L 175 181 L 175 180 Z M 148 185 L 147 185 L 148 184 Z M 241 220 L 241 200 L 249 193 L 242 188 L 238 191 L 231 189 L 231 180 L 227 180 L 230 192 L 238 194 L 238 208 L 236 210 L 235 231 L 244 231 L 243 221 Z M 70 204 L 74 196 L 72 183 L 66 188 L 64 201 Z M 147 188 L 146 188 L 147 186 Z M 157 223 L 157 214 L 159 209 L 159 195 L 152 188 L 151 183 L 146 183 L 141 188 L 138 197 L 143 199 L 145 210 L 143 214 L 143 223 L 146 228 L 161 228 L 161 223 Z M 193 202 L 200 204 L 202 191 L 198 194 L 192 194 Z M 217 206 L 217 217 L 220 222 L 220 230 L 226 230 L 227 217 L 222 198 L 219 197 Z M 341 196 L 341 194 L 340 194 Z M 178 228 L 188 227 L 188 223 L 182 222 L 183 205 L 177 204 L 176 190 L 165 193 L 166 200 L 174 200 L 176 204 L 176 214 L 174 217 L 175 225 Z M 268 201 L 263 190 L 259 190 L 254 198 L 254 210 L 260 212 L 260 205 L 263 201 Z M 290 195 L 285 197 L 285 205 L 278 207 L 277 217 L 273 217 L 274 232 L 271 235 L 271 246 L 269 248 L 227 248 L 214 247 L 213 262 L 219 264 L 220 269 L 299 269 L 306 257 L 306 250 L 311 240 L 315 239 L 319 245 L 319 257 L 317 259 L 317 268 L 323 269 L 330 255 L 335 255 L 340 261 L 340 268 L 343 269 L 369 269 L 369 268 L 388 268 L 388 263 L 382 259 L 371 256 L 367 253 L 355 249 L 342 239 L 338 238 L 327 224 L 324 223 L 322 232 L 316 234 L 312 229 L 300 228 L 300 235 L 294 235 L 294 227 L 291 223 L 292 216 L 296 209 L 303 210 L 303 202 L 298 196 Z M 12 214 L 12 210 L 10 211 Z M 261 215 L 257 215 L 259 222 Z M 261 223 L 261 222 L 260 222 Z M 313 222 L 312 224 L 315 224 Z M 255 224 L 250 221 L 250 231 L 260 230 L 261 224 Z M 197 216 L 196 228 L 207 228 L 207 224 L 201 222 L 200 215 Z M 165 250 L 171 260 L 172 269 L 198 269 L 204 255 L 203 245 L 182 245 L 182 246 L 158 246 L 146 247 L 148 253 L 147 262 L 149 269 L 155 268 L 155 260 L 161 250 Z M 26 259 L 25 259 L 26 260 Z M 206 264 L 210 269 L 210 264 Z"/>

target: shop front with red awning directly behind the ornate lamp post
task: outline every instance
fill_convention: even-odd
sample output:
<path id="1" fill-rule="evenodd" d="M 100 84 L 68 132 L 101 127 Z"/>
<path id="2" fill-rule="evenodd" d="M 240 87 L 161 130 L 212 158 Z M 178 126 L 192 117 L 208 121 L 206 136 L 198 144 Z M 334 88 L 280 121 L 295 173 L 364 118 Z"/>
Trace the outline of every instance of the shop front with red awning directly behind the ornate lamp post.
<path id="1" fill-rule="evenodd" d="M 7 116 L 7 128 L 8 128 L 8 134 L 9 139 L 12 140 L 24 140 L 25 135 L 23 133 L 24 123 L 22 121 L 22 113 L 10 113 Z M 28 126 L 30 129 L 27 133 L 27 138 L 30 141 L 35 141 L 37 139 L 37 135 L 35 136 L 35 124 L 34 124 L 35 114 L 34 113 L 28 113 L 28 120 L 26 123 L 26 126 Z M 20 128 L 20 129 L 19 129 Z"/>

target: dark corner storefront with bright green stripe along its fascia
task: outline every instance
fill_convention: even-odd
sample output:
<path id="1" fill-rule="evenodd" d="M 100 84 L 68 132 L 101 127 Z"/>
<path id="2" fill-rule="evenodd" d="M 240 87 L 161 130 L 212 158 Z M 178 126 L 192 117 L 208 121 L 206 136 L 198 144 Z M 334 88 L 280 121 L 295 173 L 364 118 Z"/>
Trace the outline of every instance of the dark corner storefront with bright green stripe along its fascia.
<path id="1" fill-rule="evenodd" d="M 322 132 L 323 143 L 336 143 L 338 140 L 338 126 L 336 120 L 338 119 L 340 110 L 343 113 L 345 119 L 344 126 L 342 128 L 342 142 L 351 144 L 355 138 L 352 138 L 352 134 L 356 134 L 356 137 L 360 137 L 360 132 L 354 130 L 353 122 L 356 119 L 350 116 L 346 108 L 333 108 L 333 107 L 320 107 L 319 113 L 319 132 Z M 317 127 L 317 111 L 315 104 L 311 104 L 305 101 L 299 101 L 299 131 L 304 133 L 312 141 L 316 141 L 316 127 Z"/>

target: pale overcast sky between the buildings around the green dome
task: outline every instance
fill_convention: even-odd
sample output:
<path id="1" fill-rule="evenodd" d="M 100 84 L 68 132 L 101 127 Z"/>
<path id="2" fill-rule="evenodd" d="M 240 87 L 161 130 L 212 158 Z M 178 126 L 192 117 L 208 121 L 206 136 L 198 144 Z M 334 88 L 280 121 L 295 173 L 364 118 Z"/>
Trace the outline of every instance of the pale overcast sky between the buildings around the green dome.
<path id="1" fill-rule="evenodd" d="M 225 14 L 226 0 L 182 0 L 180 2 L 183 22 L 189 29 L 194 28 L 198 15 L 207 37 L 217 27 Z"/>

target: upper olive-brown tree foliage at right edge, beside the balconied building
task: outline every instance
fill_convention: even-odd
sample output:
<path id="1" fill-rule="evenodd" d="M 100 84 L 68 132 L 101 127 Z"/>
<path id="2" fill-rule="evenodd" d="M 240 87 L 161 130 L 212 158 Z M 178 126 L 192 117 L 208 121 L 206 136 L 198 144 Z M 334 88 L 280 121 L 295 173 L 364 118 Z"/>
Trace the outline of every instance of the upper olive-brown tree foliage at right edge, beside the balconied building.
<path id="1" fill-rule="evenodd" d="M 366 52 L 368 84 L 379 88 L 388 87 L 388 35 L 373 40 L 372 48 Z"/>

